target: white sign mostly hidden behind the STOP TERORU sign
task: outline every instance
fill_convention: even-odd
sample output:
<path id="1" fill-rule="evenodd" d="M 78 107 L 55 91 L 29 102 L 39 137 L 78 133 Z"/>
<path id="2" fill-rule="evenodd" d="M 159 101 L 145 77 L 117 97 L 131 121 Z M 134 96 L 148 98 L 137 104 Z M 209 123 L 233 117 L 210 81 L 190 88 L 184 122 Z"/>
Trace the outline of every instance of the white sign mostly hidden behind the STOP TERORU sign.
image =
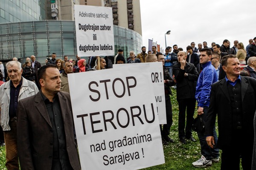
<path id="1" fill-rule="evenodd" d="M 159 124 L 166 124 L 166 106 L 165 106 L 165 93 L 164 93 L 164 82 L 163 82 L 163 63 L 162 62 L 142 62 L 142 63 L 134 63 L 134 64 L 113 64 L 113 68 L 125 68 L 129 69 L 131 65 L 135 65 L 136 67 L 141 68 L 142 65 L 147 65 L 149 67 L 148 78 L 150 79 L 151 84 L 154 89 L 154 99 L 157 102 L 157 113 Z M 140 72 L 133 72 L 134 74 L 140 74 L 141 72 L 145 72 L 144 70 L 140 70 Z M 144 88 L 147 88 L 148 85 L 145 84 Z"/>

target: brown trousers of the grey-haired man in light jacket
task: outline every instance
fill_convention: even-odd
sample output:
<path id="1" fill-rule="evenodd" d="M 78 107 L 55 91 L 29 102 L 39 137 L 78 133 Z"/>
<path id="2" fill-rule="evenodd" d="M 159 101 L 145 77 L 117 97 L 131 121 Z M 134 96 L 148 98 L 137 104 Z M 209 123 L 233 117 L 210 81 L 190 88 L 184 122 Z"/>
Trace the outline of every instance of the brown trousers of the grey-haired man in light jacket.
<path id="1" fill-rule="evenodd" d="M 10 120 L 9 126 L 11 130 L 3 132 L 6 144 L 6 167 L 8 170 L 19 170 L 16 121 Z"/>

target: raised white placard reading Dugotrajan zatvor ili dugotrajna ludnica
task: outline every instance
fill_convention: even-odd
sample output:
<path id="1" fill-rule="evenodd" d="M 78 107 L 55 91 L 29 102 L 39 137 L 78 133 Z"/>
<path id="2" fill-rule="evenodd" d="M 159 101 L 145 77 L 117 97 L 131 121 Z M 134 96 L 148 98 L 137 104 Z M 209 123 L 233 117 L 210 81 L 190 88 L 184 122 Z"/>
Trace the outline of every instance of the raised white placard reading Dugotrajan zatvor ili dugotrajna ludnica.
<path id="1" fill-rule="evenodd" d="M 79 56 L 114 55 L 112 8 L 75 5 L 75 23 Z"/>

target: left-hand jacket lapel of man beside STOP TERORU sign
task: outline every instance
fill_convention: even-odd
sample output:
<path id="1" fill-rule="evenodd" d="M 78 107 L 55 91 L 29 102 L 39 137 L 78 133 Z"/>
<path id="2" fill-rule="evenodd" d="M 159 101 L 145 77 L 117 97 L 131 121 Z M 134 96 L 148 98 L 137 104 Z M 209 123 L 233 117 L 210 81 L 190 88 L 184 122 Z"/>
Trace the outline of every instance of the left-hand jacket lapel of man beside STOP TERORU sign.
<path id="1" fill-rule="evenodd" d="M 52 127 L 52 124 L 51 124 L 51 121 L 50 121 L 50 118 L 49 118 L 49 115 L 47 112 L 47 108 L 44 104 L 44 100 L 43 100 L 40 92 L 38 92 L 36 94 L 35 102 L 36 102 L 35 107 L 38 109 L 38 112 L 44 117 L 44 119 L 50 125 L 50 127 Z"/>

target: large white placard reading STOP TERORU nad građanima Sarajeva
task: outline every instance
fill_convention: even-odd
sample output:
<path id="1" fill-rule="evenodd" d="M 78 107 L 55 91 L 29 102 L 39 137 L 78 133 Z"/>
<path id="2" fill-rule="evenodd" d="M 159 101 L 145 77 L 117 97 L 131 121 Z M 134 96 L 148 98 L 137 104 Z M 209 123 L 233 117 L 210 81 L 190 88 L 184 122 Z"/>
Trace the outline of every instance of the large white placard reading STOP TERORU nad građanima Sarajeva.
<path id="1" fill-rule="evenodd" d="M 68 74 L 82 170 L 135 170 L 164 163 L 147 65 Z M 147 88 L 145 88 L 147 85 Z"/>

